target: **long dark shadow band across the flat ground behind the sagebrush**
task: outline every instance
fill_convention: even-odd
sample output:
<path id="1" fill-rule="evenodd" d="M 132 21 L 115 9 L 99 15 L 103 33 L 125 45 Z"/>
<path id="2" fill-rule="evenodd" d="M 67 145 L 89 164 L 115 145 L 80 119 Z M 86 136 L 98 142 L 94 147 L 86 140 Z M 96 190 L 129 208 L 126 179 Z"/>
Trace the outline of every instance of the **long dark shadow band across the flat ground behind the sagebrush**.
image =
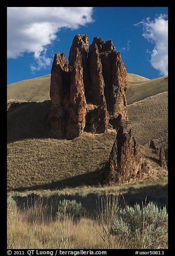
<path id="1" fill-rule="evenodd" d="M 133 206 L 135 203 L 141 206 L 142 204 L 147 205 L 149 202 L 156 203 L 158 207 L 163 208 L 166 206 L 167 208 L 167 185 L 154 185 L 142 188 L 130 187 L 127 192 L 125 190 L 117 192 L 120 192 L 118 197 L 113 194 L 116 193 L 114 189 L 108 189 L 108 193 L 106 194 L 105 188 L 104 190 L 97 188 L 86 195 L 82 195 L 81 190 L 77 190 L 72 195 L 66 194 L 66 190 L 62 192 L 62 194 L 61 191 L 57 190 L 53 191 L 53 193 L 50 193 L 48 196 L 40 196 L 33 192 L 26 196 L 13 196 L 13 199 L 16 201 L 17 207 L 21 210 L 29 209 L 34 207 L 34 205 L 36 206 L 36 203 L 39 203 L 37 205 L 42 205 L 43 209 L 48 210 L 47 217 L 52 214 L 53 219 L 57 216 L 60 201 L 64 200 L 75 200 L 76 203 L 81 203 L 82 207 L 85 209 L 84 215 L 90 218 L 97 218 L 101 212 L 101 208 L 105 210 L 106 202 L 118 203 L 120 208 L 125 207 L 125 205 Z M 108 201 L 106 201 L 106 199 Z M 101 202 L 103 203 L 101 204 Z"/>

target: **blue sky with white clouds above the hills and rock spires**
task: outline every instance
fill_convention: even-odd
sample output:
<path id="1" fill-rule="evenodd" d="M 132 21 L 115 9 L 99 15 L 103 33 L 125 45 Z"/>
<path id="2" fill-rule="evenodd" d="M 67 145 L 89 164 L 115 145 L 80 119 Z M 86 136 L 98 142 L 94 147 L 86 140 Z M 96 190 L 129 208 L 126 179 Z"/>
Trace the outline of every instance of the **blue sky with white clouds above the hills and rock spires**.
<path id="1" fill-rule="evenodd" d="M 167 75 L 165 7 L 8 7 L 8 84 L 47 75 L 76 34 L 112 39 L 128 73 Z"/>

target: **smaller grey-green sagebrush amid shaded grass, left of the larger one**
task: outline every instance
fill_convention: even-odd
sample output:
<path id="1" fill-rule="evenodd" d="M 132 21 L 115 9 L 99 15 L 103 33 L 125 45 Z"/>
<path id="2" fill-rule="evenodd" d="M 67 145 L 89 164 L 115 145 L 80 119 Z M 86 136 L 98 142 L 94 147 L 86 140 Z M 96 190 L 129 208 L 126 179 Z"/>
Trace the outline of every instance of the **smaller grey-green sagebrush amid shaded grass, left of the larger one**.
<path id="1" fill-rule="evenodd" d="M 59 202 L 59 210 L 57 212 L 57 218 L 60 220 L 65 217 L 72 219 L 79 219 L 85 214 L 85 209 L 81 203 L 77 203 L 76 200 L 66 200 Z"/>

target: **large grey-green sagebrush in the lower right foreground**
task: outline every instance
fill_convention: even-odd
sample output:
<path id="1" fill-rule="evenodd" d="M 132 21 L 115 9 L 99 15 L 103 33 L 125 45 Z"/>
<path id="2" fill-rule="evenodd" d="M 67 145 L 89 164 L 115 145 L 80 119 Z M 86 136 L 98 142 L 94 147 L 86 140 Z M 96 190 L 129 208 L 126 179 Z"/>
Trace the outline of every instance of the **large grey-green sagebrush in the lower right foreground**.
<path id="1" fill-rule="evenodd" d="M 167 212 L 150 202 L 146 207 L 135 204 L 120 209 L 114 217 L 111 233 L 127 238 L 136 248 L 162 248 L 167 246 Z"/>

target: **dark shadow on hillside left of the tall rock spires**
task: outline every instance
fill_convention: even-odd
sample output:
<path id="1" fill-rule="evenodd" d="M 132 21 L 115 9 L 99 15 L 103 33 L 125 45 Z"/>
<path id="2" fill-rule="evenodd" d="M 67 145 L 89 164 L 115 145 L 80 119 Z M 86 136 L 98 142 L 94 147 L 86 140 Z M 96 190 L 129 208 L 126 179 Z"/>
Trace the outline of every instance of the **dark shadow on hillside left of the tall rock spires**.
<path id="1" fill-rule="evenodd" d="M 48 122 L 50 108 L 51 101 L 12 105 L 7 115 L 8 143 L 29 138 L 55 138 Z"/>

